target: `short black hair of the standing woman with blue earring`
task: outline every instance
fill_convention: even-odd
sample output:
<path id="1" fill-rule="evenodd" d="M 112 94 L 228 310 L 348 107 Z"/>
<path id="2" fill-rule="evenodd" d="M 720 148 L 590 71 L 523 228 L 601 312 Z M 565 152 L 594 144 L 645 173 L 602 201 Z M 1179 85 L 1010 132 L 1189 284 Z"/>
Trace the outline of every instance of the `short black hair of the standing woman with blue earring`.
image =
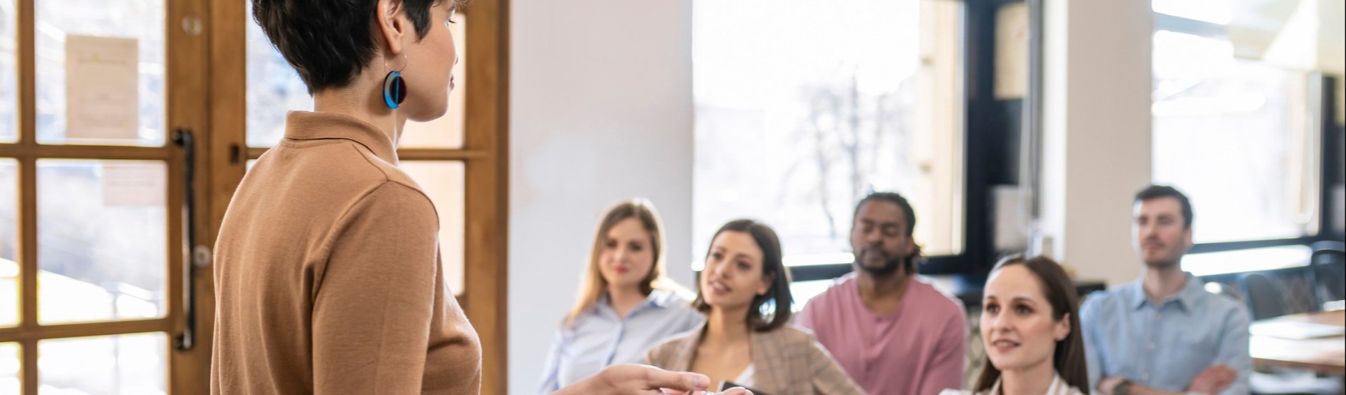
<path id="1" fill-rule="evenodd" d="M 374 56 L 378 0 L 252 0 L 253 17 L 308 94 L 350 85 Z M 458 0 L 400 0 L 420 40 L 429 32 L 431 7 Z"/>

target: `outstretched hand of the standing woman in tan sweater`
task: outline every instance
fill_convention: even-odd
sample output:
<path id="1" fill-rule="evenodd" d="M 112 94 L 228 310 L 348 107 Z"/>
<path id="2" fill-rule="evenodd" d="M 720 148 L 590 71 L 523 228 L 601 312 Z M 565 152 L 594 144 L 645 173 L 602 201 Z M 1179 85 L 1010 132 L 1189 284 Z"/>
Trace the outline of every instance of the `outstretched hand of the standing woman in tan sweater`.
<path id="1" fill-rule="evenodd" d="M 611 365 L 603 371 L 576 382 L 556 395 L 564 394 L 704 394 L 711 386 L 711 379 L 700 374 L 670 372 L 651 365 L 622 364 Z M 751 395 L 743 388 L 734 388 L 721 395 Z"/>

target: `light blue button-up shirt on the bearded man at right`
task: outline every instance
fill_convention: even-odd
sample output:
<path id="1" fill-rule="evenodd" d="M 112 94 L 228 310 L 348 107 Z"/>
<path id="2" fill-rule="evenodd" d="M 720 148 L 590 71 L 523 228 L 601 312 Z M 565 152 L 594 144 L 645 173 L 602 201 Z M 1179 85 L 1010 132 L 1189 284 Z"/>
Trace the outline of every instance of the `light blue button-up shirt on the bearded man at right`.
<path id="1" fill-rule="evenodd" d="M 1141 281 L 1096 292 L 1079 308 L 1089 386 L 1121 376 L 1133 383 L 1183 392 L 1201 371 L 1225 364 L 1238 379 L 1219 395 L 1248 394 L 1253 360 L 1248 355 L 1248 310 L 1209 293 L 1187 274 L 1176 296 L 1154 304 Z"/>

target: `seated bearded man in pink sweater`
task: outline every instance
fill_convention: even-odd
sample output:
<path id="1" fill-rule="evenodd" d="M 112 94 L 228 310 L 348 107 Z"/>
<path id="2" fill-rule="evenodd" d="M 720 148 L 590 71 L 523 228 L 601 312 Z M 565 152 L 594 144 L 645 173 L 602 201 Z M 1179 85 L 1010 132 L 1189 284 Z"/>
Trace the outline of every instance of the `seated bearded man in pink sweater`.
<path id="1" fill-rule="evenodd" d="M 962 387 L 962 304 L 915 277 L 917 218 L 902 195 L 875 192 L 856 206 L 855 271 L 804 306 L 795 324 L 872 395 L 934 395 Z"/>

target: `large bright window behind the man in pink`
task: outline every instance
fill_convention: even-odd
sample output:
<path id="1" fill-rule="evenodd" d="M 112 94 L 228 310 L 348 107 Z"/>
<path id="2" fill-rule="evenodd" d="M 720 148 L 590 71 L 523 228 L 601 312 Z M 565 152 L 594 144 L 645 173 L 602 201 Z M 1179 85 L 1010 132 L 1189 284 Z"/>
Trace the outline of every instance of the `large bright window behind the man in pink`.
<path id="1" fill-rule="evenodd" d="M 907 196 L 927 255 L 960 254 L 960 27 L 952 0 L 696 1 L 692 255 L 754 218 L 787 265 L 848 263 L 871 191 Z"/>

